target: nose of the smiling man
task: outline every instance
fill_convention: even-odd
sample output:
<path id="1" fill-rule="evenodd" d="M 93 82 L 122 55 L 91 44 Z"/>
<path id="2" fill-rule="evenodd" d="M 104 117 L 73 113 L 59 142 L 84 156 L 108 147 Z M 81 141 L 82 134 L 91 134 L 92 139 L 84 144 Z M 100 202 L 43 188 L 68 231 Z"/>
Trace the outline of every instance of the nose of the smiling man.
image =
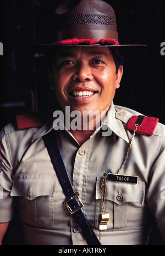
<path id="1" fill-rule="evenodd" d="M 74 81 L 80 81 L 80 82 L 91 81 L 92 74 L 91 74 L 90 66 L 82 63 L 79 64 L 76 67 L 76 70 L 73 74 L 72 79 Z"/>

